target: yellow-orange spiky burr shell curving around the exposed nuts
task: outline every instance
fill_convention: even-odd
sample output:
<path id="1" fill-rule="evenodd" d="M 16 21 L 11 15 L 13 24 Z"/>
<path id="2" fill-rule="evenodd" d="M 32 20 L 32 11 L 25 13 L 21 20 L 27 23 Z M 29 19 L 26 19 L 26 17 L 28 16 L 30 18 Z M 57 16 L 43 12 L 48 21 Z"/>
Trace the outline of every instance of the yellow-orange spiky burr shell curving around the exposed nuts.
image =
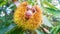
<path id="1" fill-rule="evenodd" d="M 28 20 L 25 18 L 26 6 L 27 2 L 23 2 L 14 12 L 14 22 L 18 27 L 23 28 L 24 30 L 35 30 L 41 25 L 42 21 L 42 11 L 36 6 L 36 13 L 29 18 Z"/>

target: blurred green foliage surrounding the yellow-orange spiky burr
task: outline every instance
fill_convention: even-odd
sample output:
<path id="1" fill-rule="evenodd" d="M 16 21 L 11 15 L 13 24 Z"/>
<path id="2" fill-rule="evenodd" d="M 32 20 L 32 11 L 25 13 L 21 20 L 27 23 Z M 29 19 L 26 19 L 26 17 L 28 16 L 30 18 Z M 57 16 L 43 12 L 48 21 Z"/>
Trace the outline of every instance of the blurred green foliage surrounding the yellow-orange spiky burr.
<path id="1" fill-rule="evenodd" d="M 9 1 L 10 0 L 0 0 L 0 34 L 28 34 L 28 30 L 23 31 L 22 28 L 18 28 L 16 24 L 14 24 L 13 13 L 16 6 L 12 1 Z M 23 1 L 28 1 L 31 5 L 38 4 L 37 0 L 20 0 L 20 2 Z M 43 27 L 32 31 L 32 34 L 60 34 L 60 10 L 51 4 L 52 0 L 39 1 L 43 12 L 43 24 L 41 25 Z M 10 13 L 8 13 L 8 11 Z M 2 12 L 5 14 L 4 16 L 1 16 Z"/>

